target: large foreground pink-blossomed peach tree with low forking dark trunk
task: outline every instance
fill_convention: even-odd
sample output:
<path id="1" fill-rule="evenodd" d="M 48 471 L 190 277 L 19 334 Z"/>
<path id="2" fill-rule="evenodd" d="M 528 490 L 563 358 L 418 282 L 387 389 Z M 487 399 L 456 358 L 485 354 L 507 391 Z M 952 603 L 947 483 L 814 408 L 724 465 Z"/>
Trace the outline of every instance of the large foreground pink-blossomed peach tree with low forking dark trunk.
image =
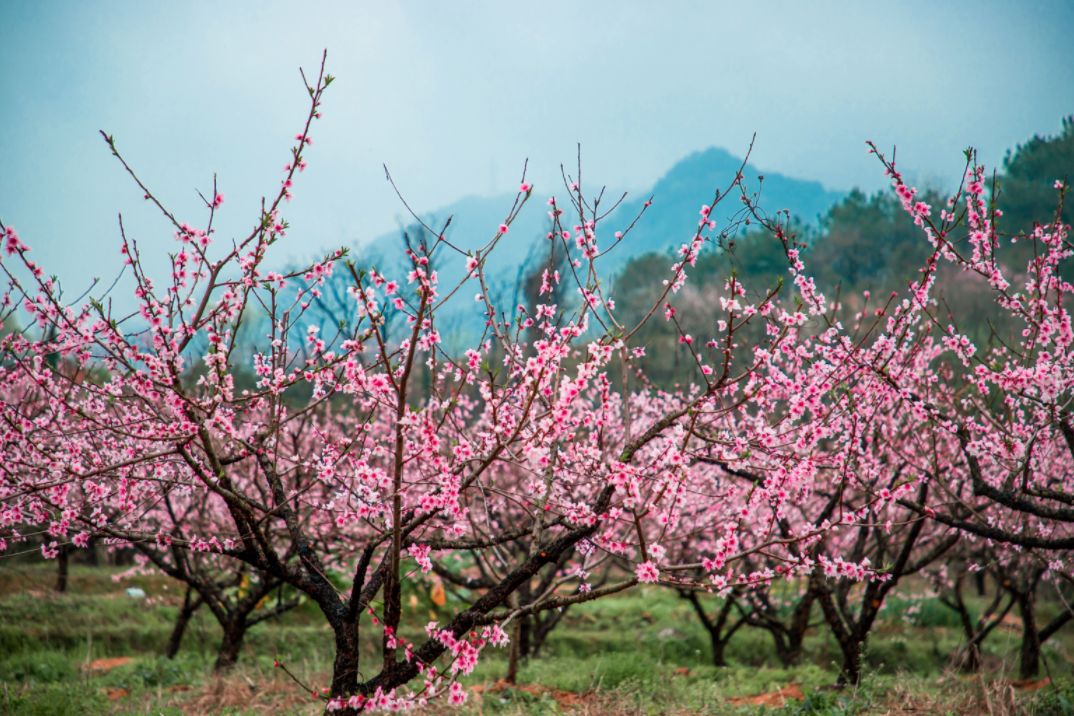
<path id="1" fill-rule="evenodd" d="M 2 339 L 0 547 L 43 529 L 47 557 L 102 537 L 139 545 L 159 566 L 209 554 L 221 569 L 242 565 L 287 584 L 334 635 L 331 683 L 304 687 L 343 711 L 440 695 L 462 702 L 458 677 L 524 615 L 638 583 L 724 587 L 812 569 L 792 547 L 840 520 L 775 528 L 819 477 L 811 453 L 826 433 L 810 410 L 823 410 L 831 386 L 818 364 L 806 403 L 772 414 L 788 385 L 775 359 L 796 355 L 809 374 L 814 359 L 799 328 L 823 310 L 797 249 L 785 244 L 801 297 L 750 294 L 729 280 L 712 337 L 682 336 L 697 380 L 673 394 L 621 377 L 643 351 L 632 344 L 640 322 L 676 320 L 674 295 L 715 236 L 710 205 L 687 222 L 691 239 L 659 302 L 635 325 L 620 321 L 598 273 L 629 228 L 601 246 L 598 201 L 570 180 L 564 199 L 549 200 L 550 240 L 568 252 L 569 271 L 546 272 L 540 294 L 567 286 L 579 296 L 572 307 L 507 308 L 488 289 L 485 259 L 534 193 L 525 178 L 491 238 L 464 249 L 436 232 L 434 246 L 408 252 L 405 276 L 353 265 L 344 250 L 272 271 L 266 257 L 287 234 L 286 202 L 332 81 L 323 62 L 316 78 L 304 76 L 309 112 L 281 186 L 249 233 L 227 244 L 214 228 L 223 210 L 215 186 L 204 222 L 180 221 L 104 135 L 176 242 L 160 280 L 120 218 L 132 317 L 100 297 L 66 304 L 16 231 L 2 229 L 5 319 L 24 327 Z M 741 175 L 715 201 L 736 193 L 749 202 Z M 433 250 L 466 254 L 460 284 L 440 286 Z M 339 272 L 350 313 L 331 331 L 307 327 L 310 305 Z M 448 353 L 437 317 L 475 290 L 484 335 Z M 404 317 L 402 331 L 389 331 L 390 311 Z M 265 332 L 243 365 L 240 327 L 255 312 Z M 742 350 L 748 325 L 763 337 Z M 748 488 L 722 482 L 728 465 L 763 477 Z M 197 518 L 177 518 L 176 506 L 198 508 Z M 685 539 L 706 556 L 677 561 L 671 547 Z M 739 560 L 758 551 L 783 555 L 783 565 L 740 574 Z M 589 568 L 607 560 L 622 569 L 593 587 Z M 402 589 L 434 566 L 480 570 L 481 588 L 449 618 L 421 624 L 405 613 Z M 520 589 L 549 572 L 546 588 Z M 362 639 L 379 644 L 375 663 L 360 662 Z"/>

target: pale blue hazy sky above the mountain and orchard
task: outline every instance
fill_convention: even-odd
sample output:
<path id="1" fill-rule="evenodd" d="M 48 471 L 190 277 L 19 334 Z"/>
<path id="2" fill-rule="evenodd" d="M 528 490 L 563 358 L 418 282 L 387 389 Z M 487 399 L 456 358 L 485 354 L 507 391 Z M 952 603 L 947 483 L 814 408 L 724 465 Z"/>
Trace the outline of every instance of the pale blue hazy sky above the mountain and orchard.
<path id="1" fill-rule="evenodd" d="M 118 265 L 146 209 L 98 129 L 184 219 L 214 172 L 220 235 L 248 230 L 305 113 L 297 68 L 338 77 L 288 206 L 305 255 L 434 209 L 586 177 L 643 189 L 687 152 L 741 152 L 836 189 L 879 188 L 863 141 L 953 178 L 1074 112 L 1071 2 L 0 1 L 0 219 L 70 284 Z M 556 185 L 557 186 L 557 185 Z"/>

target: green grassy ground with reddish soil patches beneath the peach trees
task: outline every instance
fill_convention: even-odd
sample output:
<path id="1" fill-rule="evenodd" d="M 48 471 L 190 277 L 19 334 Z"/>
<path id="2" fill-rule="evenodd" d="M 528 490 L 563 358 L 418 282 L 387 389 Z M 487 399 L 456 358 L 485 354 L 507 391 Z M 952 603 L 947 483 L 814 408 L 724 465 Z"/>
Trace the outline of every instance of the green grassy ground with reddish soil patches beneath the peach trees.
<path id="1" fill-rule="evenodd" d="M 209 615 L 200 612 L 179 657 L 165 659 L 159 655 L 182 590 L 161 578 L 117 584 L 111 574 L 74 567 L 70 591 L 55 595 L 49 566 L 0 568 L 0 713 L 320 713 L 273 667 L 279 658 L 307 683 L 326 683 L 331 634 L 308 605 L 251 630 L 241 666 L 213 678 L 217 627 Z M 128 598 L 127 586 L 142 587 L 148 598 Z M 731 666 L 715 669 L 688 604 L 666 591 L 635 593 L 572 610 L 547 653 L 523 667 L 519 686 L 499 682 L 505 655 L 487 651 L 461 716 L 1074 714 L 1074 630 L 1044 647 L 1051 683 L 1017 688 L 1015 628 L 993 634 L 985 673 L 968 676 L 946 668 L 959 642 L 954 615 L 934 601 L 906 614 L 905 602 L 889 604 L 870 642 L 862 685 L 836 691 L 829 685 L 838 648 L 824 628 L 808 639 L 799 668 L 773 666 L 768 635 L 746 629 L 728 646 Z M 108 658 L 122 661 L 100 661 Z"/>

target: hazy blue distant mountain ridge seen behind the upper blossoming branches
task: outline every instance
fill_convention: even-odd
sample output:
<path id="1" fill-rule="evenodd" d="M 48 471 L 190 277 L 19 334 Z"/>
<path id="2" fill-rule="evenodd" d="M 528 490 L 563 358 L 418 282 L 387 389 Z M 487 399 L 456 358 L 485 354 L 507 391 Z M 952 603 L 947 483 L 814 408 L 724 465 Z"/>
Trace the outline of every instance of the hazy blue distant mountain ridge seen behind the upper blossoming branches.
<path id="1" fill-rule="evenodd" d="M 644 218 L 630 231 L 627 239 L 606 257 L 604 269 L 611 278 L 630 259 L 652 251 L 667 251 L 688 242 L 696 230 L 701 204 L 712 201 L 720 189 L 723 191 L 741 165 L 742 160 L 730 152 L 710 148 L 696 151 L 676 163 L 651 191 L 639 193 L 625 201 L 609 215 L 598 229 L 598 244 L 608 246 L 615 231 L 629 225 L 644 202 L 653 196 L 652 206 Z M 840 199 L 841 192 L 829 191 L 819 182 L 787 177 L 777 172 L 759 172 L 748 165 L 743 172 L 748 189 L 753 192 L 763 187 L 760 206 L 768 213 L 789 209 L 793 217 L 803 223 L 814 224 L 817 219 Z M 758 176 L 764 176 L 760 184 Z M 558 192 L 562 193 L 562 192 Z M 606 203 L 614 192 L 606 192 Z M 519 215 L 510 233 L 504 237 L 496 250 L 489 257 L 487 276 L 493 290 L 499 292 L 500 302 L 507 309 L 513 302 L 513 287 L 523 275 L 524 267 L 536 265 L 538 255 L 543 255 L 545 236 L 549 230 L 549 218 L 545 205 L 545 193 L 535 194 L 529 204 Z M 467 196 L 435 211 L 422 215 L 431 227 L 439 229 L 444 221 L 452 217 L 448 238 L 461 249 L 473 251 L 483 246 L 495 234 L 504 221 L 514 196 L 482 198 Z M 561 198 L 561 203 L 565 203 Z M 738 192 L 729 195 L 715 208 L 712 218 L 717 227 L 742 208 Z M 412 238 L 418 238 L 413 234 Z M 402 230 L 381 235 L 360 248 L 358 254 L 369 260 L 386 274 L 402 275 L 405 271 L 404 243 Z M 454 287 L 465 273 L 465 259 L 444 247 L 433 259 L 439 273 L 440 287 Z M 470 334 L 483 326 L 481 309 L 475 304 L 474 291 L 456 296 L 441 316 L 449 319 L 441 324 L 441 333 L 450 333 L 455 339 L 466 340 Z M 444 328 L 448 328 L 445 331 Z"/>

